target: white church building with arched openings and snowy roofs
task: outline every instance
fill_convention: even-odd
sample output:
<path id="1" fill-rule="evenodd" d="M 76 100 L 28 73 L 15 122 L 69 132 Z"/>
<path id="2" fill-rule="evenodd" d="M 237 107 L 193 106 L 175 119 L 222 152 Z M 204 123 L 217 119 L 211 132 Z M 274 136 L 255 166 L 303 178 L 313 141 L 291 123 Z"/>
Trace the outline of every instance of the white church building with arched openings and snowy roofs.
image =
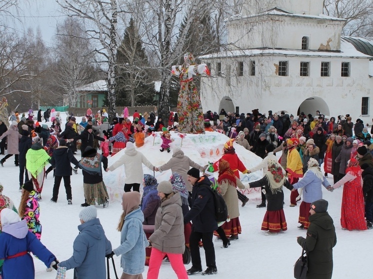
<path id="1" fill-rule="evenodd" d="M 256 8 L 255 3 L 260 2 Z M 203 111 L 373 117 L 373 38 L 341 36 L 322 0 L 246 0 L 227 24 L 228 49 L 200 56 Z"/>

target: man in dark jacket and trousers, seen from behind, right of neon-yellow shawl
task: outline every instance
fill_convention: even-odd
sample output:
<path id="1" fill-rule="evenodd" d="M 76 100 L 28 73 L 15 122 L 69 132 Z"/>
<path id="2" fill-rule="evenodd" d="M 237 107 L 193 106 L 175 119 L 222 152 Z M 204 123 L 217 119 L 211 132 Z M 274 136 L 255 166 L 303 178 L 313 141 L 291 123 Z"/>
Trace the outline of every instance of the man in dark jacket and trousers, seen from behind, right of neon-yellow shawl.
<path id="1" fill-rule="evenodd" d="M 67 204 L 72 205 L 72 195 L 71 195 L 71 184 L 70 176 L 72 175 L 72 168 L 70 163 L 75 165 L 74 170 L 76 171 L 78 167 L 78 161 L 75 159 L 72 151 L 67 148 L 66 141 L 64 139 L 59 140 L 59 146 L 54 149 L 52 157 L 50 159 L 50 164 L 54 169 L 54 186 L 53 186 L 53 196 L 50 199 L 51 202 L 56 203 L 58 199 L 59 185 L 63 178 L 63 184 L 66 189 Z"/>

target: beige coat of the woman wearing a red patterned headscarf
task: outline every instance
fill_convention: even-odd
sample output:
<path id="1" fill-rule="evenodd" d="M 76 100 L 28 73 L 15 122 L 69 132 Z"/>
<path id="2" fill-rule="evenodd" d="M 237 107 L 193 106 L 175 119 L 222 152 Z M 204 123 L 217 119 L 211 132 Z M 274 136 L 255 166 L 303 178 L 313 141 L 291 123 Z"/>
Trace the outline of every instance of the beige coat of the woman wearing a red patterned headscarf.
<path id="1" fill-rule="evenodd" d="M 238 178 L 236 178 L 236 184 L 239 189 L 245 189 L 242 182 Z M 226 180 L 221 181 L 221 184 L 219 184 L 219 188 L 220 195 L 223 197 L 226 208 L 228 209 L 229 218 L 237 218 L 239 216 L 239 210 L 236 188 L 231 184 L 228 184 Z"/>

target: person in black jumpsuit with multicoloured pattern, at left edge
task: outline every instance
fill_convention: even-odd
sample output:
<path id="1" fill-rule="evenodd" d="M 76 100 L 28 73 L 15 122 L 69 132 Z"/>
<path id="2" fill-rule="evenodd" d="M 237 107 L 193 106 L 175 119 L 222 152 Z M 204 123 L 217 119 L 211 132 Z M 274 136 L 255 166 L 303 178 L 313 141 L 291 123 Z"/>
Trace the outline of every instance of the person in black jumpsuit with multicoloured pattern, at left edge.
<path id="1" fill-rule="evenodd" d="M 41 224 L 39 222 L 39 193 L 33 189 L 32 180 L 23 184 L 22 196 L 19 203 L 18 214 L 21 220 L 26 220 L 28 230 L 40 240 Z"/>

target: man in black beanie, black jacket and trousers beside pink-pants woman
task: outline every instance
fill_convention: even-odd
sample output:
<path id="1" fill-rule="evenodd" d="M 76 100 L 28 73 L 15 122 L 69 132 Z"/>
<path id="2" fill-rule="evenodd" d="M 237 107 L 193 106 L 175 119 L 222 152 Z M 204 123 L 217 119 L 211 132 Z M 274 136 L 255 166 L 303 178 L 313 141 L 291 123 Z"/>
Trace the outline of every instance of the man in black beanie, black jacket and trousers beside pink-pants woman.
<path id="1" fill-rule="evenodd" d="M 187 180 L 193 185 L 191 192 L 191 208 L 184 216 L 184 224 L 192 221 L 191 233 L 189 238 L 189 248 L 192 267 L 187 270 L 188 275 L 202 271 L 202 265 L 199 255 L 198 243 L 202 240 L 205 252 L 207 269 L 202 275 L 216 274 L 215 250 L 213 248 L 212 236 L 217 229 L 215 220 L 215 204 L 213 193 L 211 192 L 211 182 L 207 176 L 199 177 L 199 170 L 191 168 L 187 172 Z"/>

